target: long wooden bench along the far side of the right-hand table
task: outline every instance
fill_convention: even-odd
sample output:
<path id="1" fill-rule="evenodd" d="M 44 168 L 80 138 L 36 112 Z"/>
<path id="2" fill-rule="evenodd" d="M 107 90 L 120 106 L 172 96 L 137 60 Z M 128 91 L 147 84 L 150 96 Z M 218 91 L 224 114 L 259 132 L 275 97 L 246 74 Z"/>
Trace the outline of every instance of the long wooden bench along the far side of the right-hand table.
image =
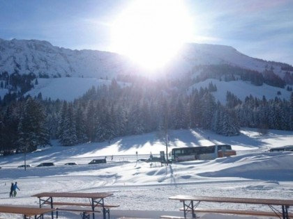
<path id="1" fill-rule="evenodd" d="M 184 211 L 180 209 L 180 211 Z M 265 216 L 265 217 L 276 217 L 282 218 L 281 212 L 273 211 L 241 211 L 241 210 L 230 210 L 230 209 L 195 209 L 195 213 L 223 213 L 223 214 L 239 214 L 247 216 Z M 293 217 L 293 213 L 288 213 L 290 218 Z"/>

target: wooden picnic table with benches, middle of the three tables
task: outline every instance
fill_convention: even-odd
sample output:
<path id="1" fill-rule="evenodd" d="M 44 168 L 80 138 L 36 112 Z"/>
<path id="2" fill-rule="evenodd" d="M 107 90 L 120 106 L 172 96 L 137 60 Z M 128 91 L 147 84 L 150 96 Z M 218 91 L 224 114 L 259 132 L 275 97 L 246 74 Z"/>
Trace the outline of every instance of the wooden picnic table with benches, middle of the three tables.
<path id="1" fill-rule="evenodd" d="M 68 205 L 68 206 L 91 206 L 91 211 L 93 213 L 93 219 L 95 218 L 95 209 L 96 207 L 101 207 L 103 209 L 103 219 L 106 219 L 106 215 L 108 214 L 108 218 L 110 218 L 110 210 L 107 208 L 105 204 L 105 198 L 113 195 L 113 193 L 38 193 L 36 195 L 32 195 L 32 197 L 38 197 L 40 208 L 49 204 L 51 209 L 54 209 L 54 206 L 57 205 Z M 69 197 L 73 200 L 73 202 L 56 202 L 56 198 L 58 197 Z M 89 202 L 79 203 L 75 202 L 77 198 L 87 198 Z M 52 212 L 53 219 L 53 212 Z"/>

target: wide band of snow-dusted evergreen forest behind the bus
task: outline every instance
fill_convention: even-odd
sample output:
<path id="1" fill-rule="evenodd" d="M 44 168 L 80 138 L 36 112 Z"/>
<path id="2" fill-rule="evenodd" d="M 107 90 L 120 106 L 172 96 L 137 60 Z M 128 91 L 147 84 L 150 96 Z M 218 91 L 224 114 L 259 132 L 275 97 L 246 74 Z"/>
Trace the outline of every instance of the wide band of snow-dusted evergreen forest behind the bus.
<path id="1" fill-rule="evenodd" d="M 246 97 L 241 102 L 227 92 L 225 106 L 211 93 L 215 86 L 179 92 L 166 82 L 136 82 L 91 88 L 74 102 L 27 97 L 0 108 L 0 150 L 33 151 L 59 139 L 70 146 L 102 142 L 118 136 L 167 129 L 202 128 L 224 136 L 240 127 L 293 130 L 293 95 L 290 101 Z"/>

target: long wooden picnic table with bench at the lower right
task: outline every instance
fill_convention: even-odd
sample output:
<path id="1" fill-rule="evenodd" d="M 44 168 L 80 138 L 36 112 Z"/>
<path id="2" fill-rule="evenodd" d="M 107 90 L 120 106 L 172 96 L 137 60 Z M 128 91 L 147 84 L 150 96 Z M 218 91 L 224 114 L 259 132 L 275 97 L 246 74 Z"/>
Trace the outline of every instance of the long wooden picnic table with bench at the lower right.
<path id="1" fill-rule="evenodd" d="M 267 205 L 279 218 L 289 219 L 288 209 L 290 206 L 293 206 L 293 200 L 274 200 L 274 199 L 261 199 L 261 198 L 242 198 L 242 197 L 203 197 L 195 195 L 174 195 L 169 197 L 170 200 L 179 200 L 183 202 L 183 212 L 184 218 L 188 212 L 192 213 L 192 218 L 195 218 L 195 211 L 200 202 L 225 202 L 225 203 L 238 203 L 238 204 L 257 204 L 257 205 Z M 276 209 L 276 206 L 281 206 L 281 209 Z M 205 211 L 208 212 L 208 211 Z M 210 212 L 216 212 L 211 209 Z M 242 214 L 251 214 L 253 211 L 235 211 L 235 210 L 225 210 L 220 209 L 218 212 L 221 213 L 242 213 Z M 255 215 L 260 215 L 254 211 Z M 272 212 L 269 212 L 272 213 Z M 269 215 L 269 213 L 267 213 Z M 265 214 L 265 212 L 263 212 Z M 273 214 L 271 215 L 273 216 Z"/>

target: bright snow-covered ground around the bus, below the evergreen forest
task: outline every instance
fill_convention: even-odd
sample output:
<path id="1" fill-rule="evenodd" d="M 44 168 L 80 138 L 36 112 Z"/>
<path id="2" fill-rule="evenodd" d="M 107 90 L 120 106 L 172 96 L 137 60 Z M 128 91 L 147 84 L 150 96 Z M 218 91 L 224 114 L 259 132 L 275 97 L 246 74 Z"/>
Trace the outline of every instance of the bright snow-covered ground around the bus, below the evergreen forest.
<path id="1" fill-rule="evenodd" d="M 0 156 L 0 204 L 38 206 L 38 199 L 31 195 L 41 192 L 110 192 L 114 195 L 108 197 L 106 203 L 120 204 L 110 211 L 110 218 L 159 218 L 160 215 L 183 216 L 179 211 L 182 203 L 168 199 L 172 195 L 293 198 L 293 153 L 268 152 L 272 147 L 292 145 L 291 131 L 269 130 L 268 134 L 261 136 L 256 129 L 242 129 L 241 135 L 234 137 L 219 136 L 202 129 L 170 131 L 169 152 L 173 147 L 226 143 L 232 145 L 237 155 L 167 166 L 137 162 L 137 158 L 147 159 L 150 153 L 159 156 L 160 151 L 165 151 L 165 144 L 158 136 L 158 133 L 148 133 L 115 138 L 110 144 L 87 143 L 74 147 L 52 142 L 52 147 L 42 147 L 27 154 L 27 164 L 33 166 L 27 171 L 17 168 L 24 163 L 24 154 Z M 105 156 L 106 164 L 87 164 Z M 55 166 L 35 167 L 43 162 L 54 162 Z M 78 165 L 63 165 L 68 162 Z M 9 198 L 13 181 L 17 181 L 20 191 L 17 197 Z M 260 207 L 258 210 L 270 211 L 268 206 L 246 204 L 215 203 L 212 206 L 229 209 Z M 203 219 L 254 218 L 211 213 L 200 216 Z M 11 215 L 9 218 L 21 216 Z M 75 219 L 80 215 L 60 212 L 59 218 Z M 96 218 L 102 218 L 102 214 L 96 214 Z"/>

